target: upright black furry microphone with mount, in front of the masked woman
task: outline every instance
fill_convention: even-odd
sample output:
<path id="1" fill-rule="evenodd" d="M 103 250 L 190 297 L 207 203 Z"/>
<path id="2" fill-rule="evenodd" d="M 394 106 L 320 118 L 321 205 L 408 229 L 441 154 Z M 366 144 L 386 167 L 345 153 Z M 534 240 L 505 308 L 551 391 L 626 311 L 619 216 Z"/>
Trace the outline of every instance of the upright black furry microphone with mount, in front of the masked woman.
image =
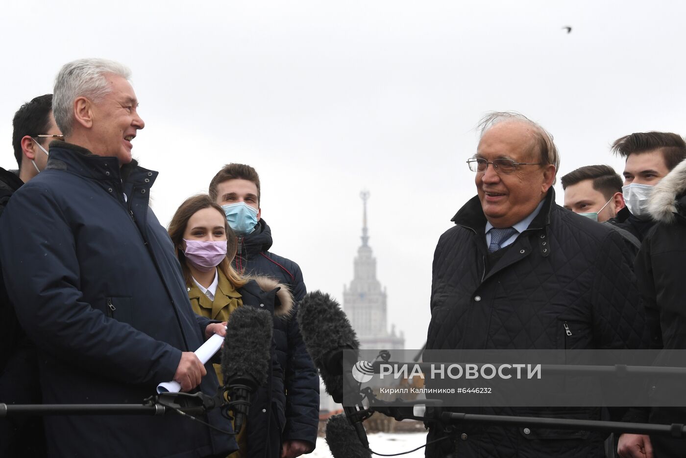
<path id="1" fill-rule="evenodd" d="M 250 306 L 231 312 L 222 350 L 222 374 L 233 411 L 233 429 L 241 431 L 250 395 L 267 383 L 272 364 L 272 315 Z"/>

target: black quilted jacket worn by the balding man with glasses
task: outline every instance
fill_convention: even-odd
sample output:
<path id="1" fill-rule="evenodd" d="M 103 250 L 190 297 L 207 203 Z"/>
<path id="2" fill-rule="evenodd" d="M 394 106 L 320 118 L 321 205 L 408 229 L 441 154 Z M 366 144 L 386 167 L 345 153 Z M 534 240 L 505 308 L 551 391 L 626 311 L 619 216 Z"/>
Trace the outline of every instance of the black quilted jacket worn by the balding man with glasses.
<path id="1" fill-rule="evenodd" d="M 646 340 L 630 253 L 619 233 L 554 203 L 486 267 L 478 196 L 454 216 L 434 254 L 427 349 L 641 348 Z M 569 328 L 569 332 L 567 332 Z M 464 410 L 464 409 L 462 409 Z M 600 420 L 600 409 L 483 408 L 473 413 Z M 466 433 L 466 440 L 460 435 Z M 554 436 L 551 436 L 554 434 Z M 431 427 L 427 441 L 445 436 Z M 604 435 L 460 425 L 427 457 L 602 457 Z"/>

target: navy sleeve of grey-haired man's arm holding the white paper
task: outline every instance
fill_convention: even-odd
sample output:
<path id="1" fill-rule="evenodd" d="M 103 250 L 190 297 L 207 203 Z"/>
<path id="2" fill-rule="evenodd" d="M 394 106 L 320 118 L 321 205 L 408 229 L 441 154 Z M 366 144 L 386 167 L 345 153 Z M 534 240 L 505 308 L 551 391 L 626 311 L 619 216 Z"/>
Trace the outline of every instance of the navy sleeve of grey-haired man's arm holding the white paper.
<path id="1" fill-rule="evenodd" d="M 22 305 L 16 314 L 29 338 L 65 363 L 110 379 L 171 380 L 181 351 L 84 302 L 75 235 L 60 205 L 40 188 L 22 191 L 0 218 L 0 258 L 8 294 Z"/>

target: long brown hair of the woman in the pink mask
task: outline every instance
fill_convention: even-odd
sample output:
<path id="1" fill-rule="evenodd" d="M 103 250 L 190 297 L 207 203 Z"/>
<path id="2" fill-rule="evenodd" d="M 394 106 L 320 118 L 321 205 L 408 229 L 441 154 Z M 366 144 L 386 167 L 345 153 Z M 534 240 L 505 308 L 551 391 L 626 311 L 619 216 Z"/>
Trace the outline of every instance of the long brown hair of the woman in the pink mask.
<path id="1" fill-rule="evenodd" d="M 174 253 L 176 254 L 176 257 L 178 257 L 178 261 L 181 263 L 181 269 L 183 271 L 183 278 L 186 281 L 186 286 L 193 285 L 193 278 L 191 277 L 191 270 L 189 270 L 186 264 L 186 257 L 181 250 L 183 233 L 186 231 L 186 227 L 188 225 L 188 221 L 191 219 L 191 216 L 204 208 L 213 208 L 222 214 L 222 218 L 224 219 L 224 231 L 226 232 L 226 257 L 224 257 L 217 268 L 222 270 L 222 273 L 232 285 L 234 285 L 236 288 L 240 288 L 248 283 L 248 281 L 241 277 L 231 265 L 231 262 L 233 262 L 233 257 L 236 255 L 236 236 L 228 226 L 228 222 L 226 222 L 226 217 L 224 216 L 224 210 L 222 207 L 210 199 L 210 196 L 207 194 L 198 194 L 197 196 L 192 196 L 186 199 L 184 203 L 182 203 L 178 209 L 176 209 L 176 213 L 174 214 L 174 217 L 171 218 L 171 222 L 169 222 L 169 228 L 167 229 L 167 232 L 169 232 L 169 237 L 171 237 L 171 242 L 174 242 Z"/>

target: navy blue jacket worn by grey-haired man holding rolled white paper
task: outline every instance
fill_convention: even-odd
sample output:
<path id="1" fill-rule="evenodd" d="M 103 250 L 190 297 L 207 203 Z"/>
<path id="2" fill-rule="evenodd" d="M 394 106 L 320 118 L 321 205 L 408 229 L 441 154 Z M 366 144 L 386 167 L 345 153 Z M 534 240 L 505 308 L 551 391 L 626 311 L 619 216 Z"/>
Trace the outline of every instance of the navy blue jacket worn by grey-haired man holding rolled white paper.
<path id="1" fill-rule="evenodd" d="M 209 320 L 193 314 L 174 247 L 148 207 L 156 176 L 53 143 L 46 169 L 0 218 L 5 283 L 38 346 L 45 403 L 140 404 L 204 340 Z M 200 389 L 216 394 L 206 370 Z M 227 427 L 218 409 L 201 417 Z M 49 416 L 45 429 L 51 457 L 225 457 L 237 448 L 178 415 Z"/>

